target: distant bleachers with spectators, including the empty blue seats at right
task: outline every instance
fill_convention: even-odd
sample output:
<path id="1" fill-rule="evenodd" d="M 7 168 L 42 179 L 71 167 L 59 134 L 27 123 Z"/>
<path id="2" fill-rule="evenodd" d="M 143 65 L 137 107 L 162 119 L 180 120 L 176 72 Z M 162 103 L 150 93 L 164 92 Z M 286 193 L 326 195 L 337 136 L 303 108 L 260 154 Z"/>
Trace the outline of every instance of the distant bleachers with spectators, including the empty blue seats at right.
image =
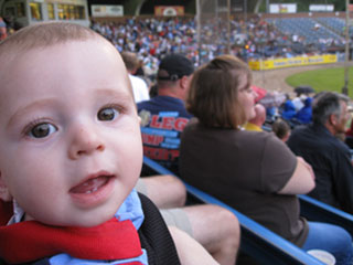
<path id="1" fill-rule="evenodd" d="M 343 52 L 342 24 L 344 23 L 342 19 L 333 17 L 321 19 L 317 17 L 260 18 L 253 15 L 245 22 L 235 18 L 231 23 L 231 42 L 236 47 L 234 51 L 236 55 L 245 61 L 308 53 Z M 133 24 L 139 26 L 132 26 Z M 199 51 L 202 60 L 210 60 L 224 52 L 225 25 L 218 26 L 223 30 L 215 31 L 212 26 L 203 24 L 202 45 Z M 146 65 L 151 65 L 148 67 L 152 73 L 156 71 L 160 56 L 170 52 L 186 55 L 195 65 L 201 60 L 199 52 L 195 52 L 197 46 L 196 23 L 190 18 L 169 21 L 158 18 L 126 18 L 109 23 L 95 21 L 92 28 L 114 41 L 118 50 L 137 52 Z M 146 38 L 147 35 L 153 38 Z M 207 40 L 204 39 L 205 36 Z M 220 43 L 213 43 L 220 40 Z M 141 44 L 136 45 L 136 43 Z M 156 51 L 159 52 L 156 53 Z"/>

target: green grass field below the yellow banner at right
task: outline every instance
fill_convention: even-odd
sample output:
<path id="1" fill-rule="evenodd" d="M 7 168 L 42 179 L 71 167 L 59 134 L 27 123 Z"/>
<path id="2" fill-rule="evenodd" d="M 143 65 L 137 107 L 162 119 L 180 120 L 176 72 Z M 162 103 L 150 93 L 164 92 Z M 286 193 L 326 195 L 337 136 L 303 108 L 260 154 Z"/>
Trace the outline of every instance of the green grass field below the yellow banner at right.
<path id="1" fill-rule="evenodd" d="M 310 85 L 315 92 L 342 92 L 344 85 L 344 67 L 322 68 L 302 72 L 286 78 L 288 85 L 296 87 Z M 349 95 L 353 98 L 353 67 L 349 68 Z"/>

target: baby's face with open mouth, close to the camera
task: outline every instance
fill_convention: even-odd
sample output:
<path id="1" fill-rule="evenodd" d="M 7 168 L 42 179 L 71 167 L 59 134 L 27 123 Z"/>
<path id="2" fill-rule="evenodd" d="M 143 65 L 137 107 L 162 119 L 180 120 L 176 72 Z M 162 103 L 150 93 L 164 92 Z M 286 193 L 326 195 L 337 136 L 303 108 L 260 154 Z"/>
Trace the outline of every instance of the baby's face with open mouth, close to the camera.
<path id="1" fill-rule="evenodd" d="M 32 50 L 1 67 L 0 78 L 0 187 L 43 223 L 113 218 L 142 165 L 116 50 L 103 40 Z"/>

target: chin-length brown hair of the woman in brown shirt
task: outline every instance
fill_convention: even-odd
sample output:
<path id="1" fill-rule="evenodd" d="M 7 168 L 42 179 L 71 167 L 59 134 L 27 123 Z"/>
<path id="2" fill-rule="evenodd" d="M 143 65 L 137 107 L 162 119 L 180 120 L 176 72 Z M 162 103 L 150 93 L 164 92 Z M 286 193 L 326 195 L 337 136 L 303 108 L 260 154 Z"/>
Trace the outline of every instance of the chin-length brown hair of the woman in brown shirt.
<path id="1" fill-rule="evenodd" d="M 245 87 L 239 87 L 246 78 Z M 238 91 L 250 85 L 252 72 L 239 59 L 221 55 L 201 66 L 191 82 L 186 109 L 207 127 L 234 128 L 246 121 Z"/>

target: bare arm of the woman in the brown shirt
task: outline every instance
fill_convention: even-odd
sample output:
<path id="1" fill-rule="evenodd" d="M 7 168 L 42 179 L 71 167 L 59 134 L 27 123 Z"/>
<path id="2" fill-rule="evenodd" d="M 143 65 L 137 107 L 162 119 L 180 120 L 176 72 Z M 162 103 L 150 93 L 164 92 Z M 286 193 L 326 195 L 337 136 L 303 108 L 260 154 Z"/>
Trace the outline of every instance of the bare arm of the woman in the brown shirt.
<path id="1" fill-rule="evenodd" d="M 278 192 L 280 194 L 306 194 L 315 187 L 314 173 L 309 163 L 297 157 L 297 167 L 286 186 Z"/>

